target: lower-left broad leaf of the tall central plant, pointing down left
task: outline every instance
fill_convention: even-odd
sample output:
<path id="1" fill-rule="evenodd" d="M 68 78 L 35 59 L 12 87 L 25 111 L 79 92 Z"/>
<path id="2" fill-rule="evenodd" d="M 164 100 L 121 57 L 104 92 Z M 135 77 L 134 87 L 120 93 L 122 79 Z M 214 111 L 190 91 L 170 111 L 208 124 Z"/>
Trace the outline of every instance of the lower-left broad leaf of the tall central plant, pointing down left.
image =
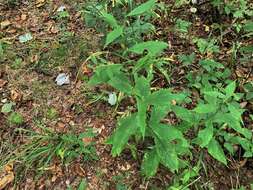
<path id="1" fill-rule="evenodd" d="M 136 114 L 121 118 L 118 121 L 116 131 L 107 142 L 112 145 L 113 156 L 120 155 L 130 136 L 135 134 L 136 130 Z"/>

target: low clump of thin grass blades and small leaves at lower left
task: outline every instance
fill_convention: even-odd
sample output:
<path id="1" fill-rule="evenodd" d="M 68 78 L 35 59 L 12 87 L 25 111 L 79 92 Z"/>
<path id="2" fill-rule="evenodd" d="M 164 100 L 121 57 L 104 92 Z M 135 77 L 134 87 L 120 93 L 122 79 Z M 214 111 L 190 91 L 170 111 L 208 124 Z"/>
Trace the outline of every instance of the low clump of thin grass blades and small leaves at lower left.
<path id="1" fill-rule="evenodd" d="M 36 167 L 36 173 L 43 173 L 52 164 L 54 158 L 59 158 L 63 163 L 69 163 L 77 157 L 83 161 L 97 160 L 94 143 L 90 139 L 95 134 L 88 130 L 81 134 L 55 133 L 46 126 L 37 123 L 38 131 L 17 128 L 15 131 L 22 133 L 26 142 L 14 150 L 4 153 L 0 167 L 8 163 L 16 163 L 18 167 L 28 171 Z"/>

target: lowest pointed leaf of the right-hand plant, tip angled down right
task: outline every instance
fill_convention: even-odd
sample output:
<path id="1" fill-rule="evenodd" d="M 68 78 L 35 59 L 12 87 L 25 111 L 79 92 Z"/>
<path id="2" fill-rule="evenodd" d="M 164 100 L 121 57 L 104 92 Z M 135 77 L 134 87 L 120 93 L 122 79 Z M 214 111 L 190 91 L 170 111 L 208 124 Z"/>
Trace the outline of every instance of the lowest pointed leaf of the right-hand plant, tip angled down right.
<path id="1" fill-rule="evenodd" d="M 227 159 L 223 152 L 223 149 L 220 146 L 219 142 L 216 141 L 214 138 L 208 144 L 207 150 L 212 157 L 222 162 L 223 164 L 227 165 Z"/>

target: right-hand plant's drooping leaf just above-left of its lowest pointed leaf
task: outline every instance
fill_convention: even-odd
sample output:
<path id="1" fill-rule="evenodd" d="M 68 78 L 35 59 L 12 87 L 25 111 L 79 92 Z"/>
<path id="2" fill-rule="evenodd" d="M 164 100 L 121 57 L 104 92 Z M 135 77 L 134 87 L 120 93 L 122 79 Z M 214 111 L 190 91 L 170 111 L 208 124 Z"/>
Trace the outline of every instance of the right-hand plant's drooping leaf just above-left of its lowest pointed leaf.
<path id="1" fill-rule="evenodd" d="M 198 139 L 200 139 L 201 141 L 199 146 L 201 148 L 206 147 L 212 138 L 213 138 L 213 124 L 208 122 L 206 123 L 205 129 L 199 131 L 198 133 Z"/>

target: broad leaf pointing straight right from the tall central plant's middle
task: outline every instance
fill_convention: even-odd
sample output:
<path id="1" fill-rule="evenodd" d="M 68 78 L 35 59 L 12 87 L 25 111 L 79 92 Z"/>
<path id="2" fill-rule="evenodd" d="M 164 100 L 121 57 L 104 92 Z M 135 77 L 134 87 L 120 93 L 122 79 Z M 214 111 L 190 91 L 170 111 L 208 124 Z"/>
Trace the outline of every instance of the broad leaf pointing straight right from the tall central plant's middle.
<path id="1" fill-rule="evenodd" d="M 149 105 L 164 106 L 172 104 L 173 101 L 181 103 L 185 100 L 185 98 L 186 95 L 183 93 L 174 94 L 168 89 L 161 89 L 149 95 L 146 101 Z"/>

